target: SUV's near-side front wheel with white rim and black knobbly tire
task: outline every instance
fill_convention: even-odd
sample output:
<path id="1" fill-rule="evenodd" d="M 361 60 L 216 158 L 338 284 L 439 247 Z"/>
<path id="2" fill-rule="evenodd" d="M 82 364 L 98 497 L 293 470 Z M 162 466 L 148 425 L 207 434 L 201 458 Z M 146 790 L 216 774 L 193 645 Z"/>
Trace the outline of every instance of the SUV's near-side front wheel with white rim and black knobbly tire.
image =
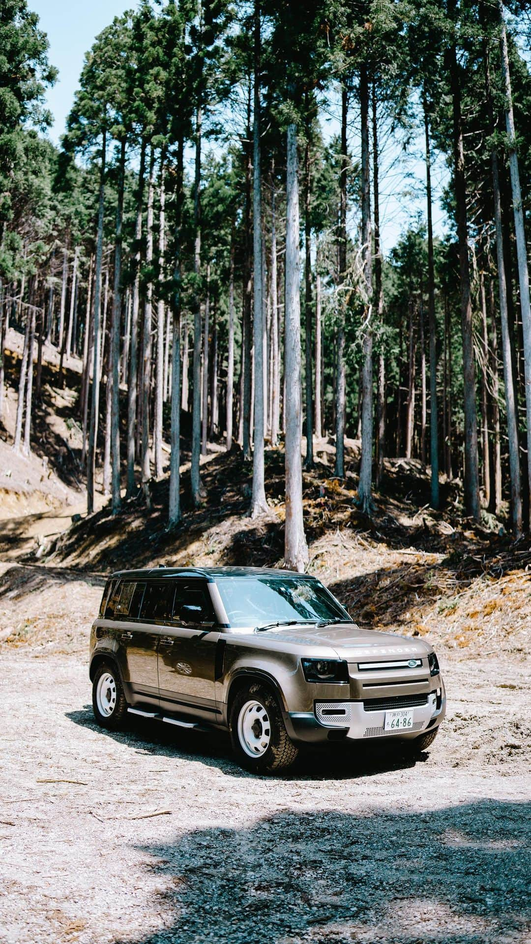
<path id="1" fill-rule="evenodd" d="M 241 745 L 239 718 L 246 702 L 254 700 L 263 705 L 271 725 L 270 744 L 259 757 L 250 757 Z M 230 738 L 241 767 L 251 773 L 270 774 L 287 770 L 296 760 L 299 749 L 286 731 L 280 705 L 273 691 L 260 683 L 250 683 L 238 692 L 230 708 Z"/>

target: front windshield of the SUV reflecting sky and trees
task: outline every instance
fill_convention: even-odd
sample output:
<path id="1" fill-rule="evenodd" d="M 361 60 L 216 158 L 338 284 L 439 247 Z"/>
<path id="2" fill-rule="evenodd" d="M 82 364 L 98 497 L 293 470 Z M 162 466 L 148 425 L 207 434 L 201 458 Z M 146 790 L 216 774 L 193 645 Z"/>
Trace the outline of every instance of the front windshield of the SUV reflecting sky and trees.
<path id="1" fill-rule="evenodd" d="M 322 583 L 300 577 L 221 577 L 216 581 L 230 626 L 351 618 Z"/>

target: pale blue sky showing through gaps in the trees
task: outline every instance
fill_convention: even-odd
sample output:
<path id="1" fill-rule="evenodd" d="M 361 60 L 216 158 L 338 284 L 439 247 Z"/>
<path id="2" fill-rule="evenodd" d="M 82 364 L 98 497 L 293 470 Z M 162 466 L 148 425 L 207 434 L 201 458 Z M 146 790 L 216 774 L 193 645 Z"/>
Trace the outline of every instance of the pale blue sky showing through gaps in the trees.
<path id="1" fill-rule="evenodd" d="M 72 106 L 85 53 L 104 26 L 125 9 L 134 8 L 136 0 L 29 0 L 28 6 L 39 14 L 41 28 L 50 43 L 50 62 L 58 68 L 58 81 L 47 95 L 49 108 L 54 115 L 50 137 L 58 143 Z M 352 115 L 352 119 L 350 146 L 356 156 L 359 154 L 356 114 Z M 338 127 L 338 116 L 329 113 L 324 119 L 325 137 L 337 133 Z M 418 141 L 410 149 L 413 153 L 409 154 L 407 160 L 395 142 L 390 142 L 384 150 L 380 214 L 382 248 L 387 254 L 411 218 L 419 212 L 425 213 L 423 135 L 419 134 Z M 440 210 L 439 195 L 448 175 L 444 161 L 438 160 L 437 155 L 434 158 L 434 229 L 436 234 L 442 234 L 446 221 Z"/>

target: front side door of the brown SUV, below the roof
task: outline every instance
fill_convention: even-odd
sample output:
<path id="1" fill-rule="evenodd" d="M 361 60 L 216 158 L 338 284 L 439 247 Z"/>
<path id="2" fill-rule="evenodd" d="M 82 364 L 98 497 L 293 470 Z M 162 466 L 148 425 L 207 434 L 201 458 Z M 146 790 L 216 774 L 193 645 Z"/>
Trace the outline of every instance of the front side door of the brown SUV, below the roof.
<path id="1" fill-rule="evenodd" d="M 188 608 L 188 609 L 187 609 Z M 206 582 L 178 580 L 172 626 L 158 647 L 158 687 L 162 711 L 213 720 L 216 647 L 220 631 Z"/>

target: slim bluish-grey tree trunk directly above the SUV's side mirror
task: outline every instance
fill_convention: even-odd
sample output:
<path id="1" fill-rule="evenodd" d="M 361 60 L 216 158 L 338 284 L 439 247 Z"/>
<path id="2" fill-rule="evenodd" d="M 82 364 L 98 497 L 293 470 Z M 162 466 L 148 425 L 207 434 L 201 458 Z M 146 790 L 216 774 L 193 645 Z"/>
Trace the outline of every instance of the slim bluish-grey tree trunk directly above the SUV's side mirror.
<path id="1" fill-rule="evenodd" d="M 201 136 L 203 127 L 203 105 L 201 96 L 195 114 L 195 170 L 193 197 L 193 273 L 195 290 L 191 303 L 193 311 L 193 365 L 192 365 L 192 410 L 191 410 L 191 500 L 197 507 L 201 501 Z"/>

